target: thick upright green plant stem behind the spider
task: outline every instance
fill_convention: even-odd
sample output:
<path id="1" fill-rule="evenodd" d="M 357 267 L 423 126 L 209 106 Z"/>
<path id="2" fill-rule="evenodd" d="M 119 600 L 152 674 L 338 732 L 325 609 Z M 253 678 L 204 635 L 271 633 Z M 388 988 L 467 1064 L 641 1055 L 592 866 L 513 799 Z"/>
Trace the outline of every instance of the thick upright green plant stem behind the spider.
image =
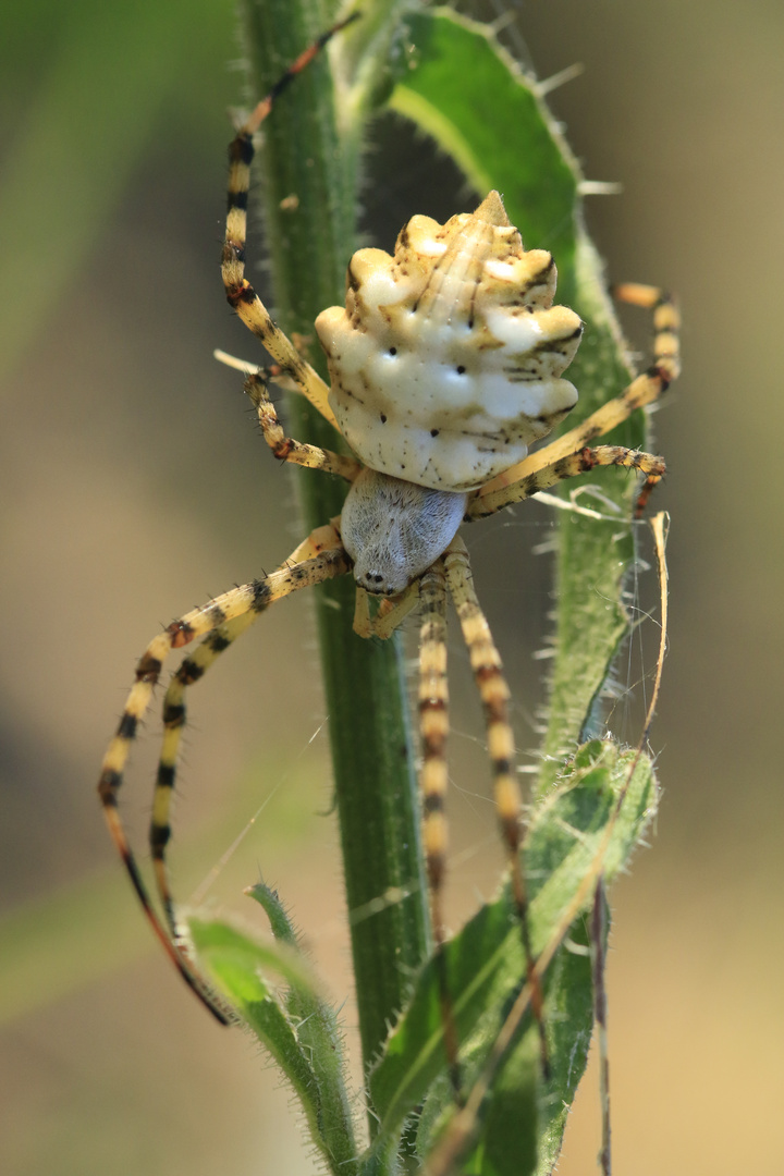
<path id="1" fill-rule="evenodd" d="M 264 94 L 330 20 L 334 12 L 317 0 L 248 0 L 253 95 Z M 289 333 L 313 338 L 316 314 L 343 300 L 346 265 L 355 248 L 360 120 L 356 111 L 339 119 L 322 56 L 289 87 L 263 126 L 254 182 L 259 186 L 261 173 L 274 310 Z M 295 208 L 290 202 L 281 208 L 287 196 L 296 196 Z M 317 347 L 310 359 L 323 373 Z M 335 432 L 302 397 L 293 397 L 290 423 L 302 440 L 337 445 Z M 340 514 L 344 487 L 336 479 L 306 470 L 297 486 L 308 528 Z M 353 612 L 353 581 L 322 587 L 317 627 L 368 1063 L 425 955 L 428 921 L 402 650 L 396 640 L 357 637 Z"/>

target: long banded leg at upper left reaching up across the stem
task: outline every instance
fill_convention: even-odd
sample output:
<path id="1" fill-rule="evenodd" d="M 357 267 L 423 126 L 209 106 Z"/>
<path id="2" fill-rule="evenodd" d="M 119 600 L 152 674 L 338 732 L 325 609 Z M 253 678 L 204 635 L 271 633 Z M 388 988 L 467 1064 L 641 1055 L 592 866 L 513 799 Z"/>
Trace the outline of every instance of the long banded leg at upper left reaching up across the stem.
<path id="1" fill-rule="evenodd" d="M 254 156 L 253 136 L 272 111 L 277 96 L 294 78 L 314 59 L 319 51 L 359 13 L 353 13 L 347 20 L 340 21 L 319 38 L 284 74 L 275 82 L 263 98 L 248 121 L 240 127 L 236 138 L 229 147 L 229 182 L 226 216 L 226 240 L 221 259 L 221 273 L 229 305 L 236 310 L 246 327 L 261 340 L 269 354 L 300 386 L 310 403 L 319 409 L 331 425 L 335 416 L 327 402 L 329 392 L 327 385 L 297 352 L 294 343 L 277 327 L 263 302 L 244 276 L 244 250 L 248 230 L 248 192 L 250 189 L 250 165 Z"/>

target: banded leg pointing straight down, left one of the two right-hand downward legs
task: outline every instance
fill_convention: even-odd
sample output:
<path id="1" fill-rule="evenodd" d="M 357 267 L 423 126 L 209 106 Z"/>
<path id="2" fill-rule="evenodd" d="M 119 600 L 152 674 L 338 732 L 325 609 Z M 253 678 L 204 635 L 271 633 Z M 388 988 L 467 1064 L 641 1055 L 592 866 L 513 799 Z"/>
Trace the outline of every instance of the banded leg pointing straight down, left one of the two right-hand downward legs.
<path id="1" fill-rule="evenodd" d="M 447 736 L 449 734 L 449 686 L 447 682 L 447 581 L 443 561 L 430 568 L 420 581 L 420 733 L 422 739 L 422 841 L 428 873 L 430 917 L 435 938 L 435 968 L 441 1001 L 447 1065 L 453 1090 L 462 1101 L 458 1038 L 449 993 L 444 941 L 443 880 L 447 866 L 447 816 L 444 801 L 448 787 Z"/>

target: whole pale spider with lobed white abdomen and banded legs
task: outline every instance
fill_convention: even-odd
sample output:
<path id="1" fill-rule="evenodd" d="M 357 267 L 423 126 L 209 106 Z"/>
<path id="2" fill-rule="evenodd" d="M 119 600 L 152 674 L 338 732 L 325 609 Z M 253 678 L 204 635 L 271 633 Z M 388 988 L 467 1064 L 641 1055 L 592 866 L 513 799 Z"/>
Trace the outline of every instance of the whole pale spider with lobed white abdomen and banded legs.
<path id="1" fill-rule="evenodd" d="M 254 134 L 280 91 L 339 27 L 297 59 L 230 146 L 222 278 L 230 306 L 275 361 L 273 368 L 254 372 L 246 381 L 264 441 L 280 461 L 343 479 L 349 485 L 346 505 L 339 517 L 311 532 L 277 570 L 186 613 L 153 639 L 136 666 L 135 684 L 103 760 L 99 791 L 109 830 L 155 934 L 185 981 L 219 1021 L 228 1023 L 230 1010 L 197 973 L 179 938 L 166 864 L 187 688 L 262 613 L 297 589 L 353 575 L 354 627 L 366 639 L 388 639 L 418 607 L 423 841 L 437 958 L 445 938 L 445 610 L 450 596 L 484 710 L 495 801 L 545 1063 L 540 980 L 527 931 L 510 695 L 458 528 L 596 466 L 618 466 L 643 475 L 637 499 L 641 512 L 664 474 L 663 460 L 591 442 L 655 401 L 676 377 L 678 313 L 674 301 L 654 287 L 618 288 L 622 299 L 652 312 L 652 366 L 576 428 L 529 455 L 529 446 L 544 437 L 577 400 L 563 372 L 576 353 L 583 325 L 572 310 L 554 305 L 551 255 L 523 248 L 501 196 L 490 192 L 474 213 L 455 215 L 445 225 L 414 216 L 401 230 L 394 255 L 380 249 L 354 254 L 348 263 L 346 306 L 323 310 L 315 323 L 329 368 L 327 386 L 275 325 L 246 278 L 246 209 Z M 287 436 L 268 394 L 269 377 L 294 383 L 353 455 Z M 163 702 L 165 737 L 149 831 L 162 920 L 126 836 L 118 794 L 166 656 L 199 639 L 201 643 L 174 674 Z M 443 971 L 440 984 L 448 1062 L 458 1089 L 457 1043 Z"/>

